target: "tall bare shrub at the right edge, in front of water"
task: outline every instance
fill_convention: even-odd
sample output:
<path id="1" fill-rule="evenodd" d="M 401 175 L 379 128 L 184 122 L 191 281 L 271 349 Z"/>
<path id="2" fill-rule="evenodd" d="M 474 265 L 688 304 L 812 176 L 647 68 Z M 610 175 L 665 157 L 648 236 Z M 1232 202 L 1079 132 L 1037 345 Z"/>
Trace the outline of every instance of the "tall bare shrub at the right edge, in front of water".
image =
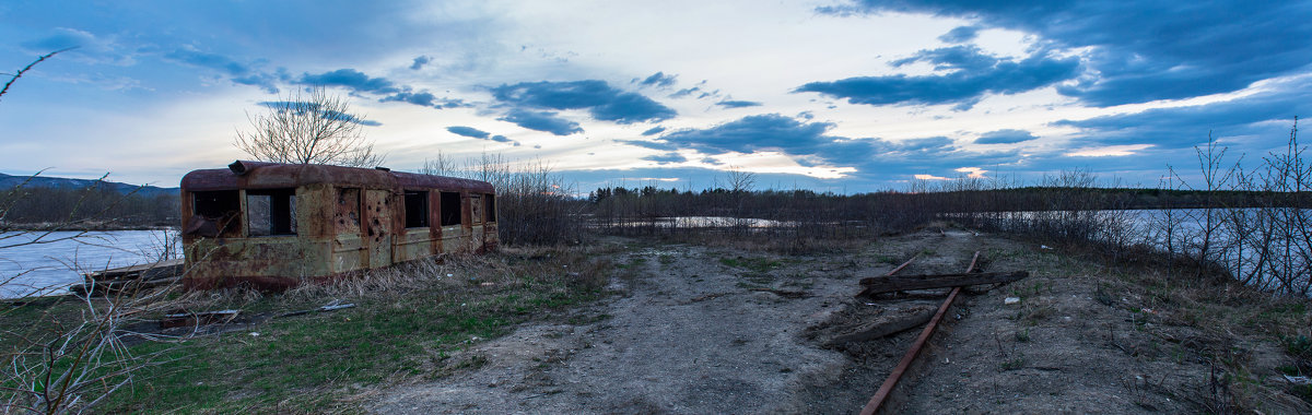
<path id="1" fill-rule="evenodd" d="M 1199 200 L 1168 206 L 1152 223 L 1149 242 L 1168 258 L 1187 258 L 1185 268 L 1195 278 L 1223 274 L 1263 291 L 1312 295 L 1312 165 L 1305 151 L 1298 119 L 1284 152 L 1267 154 L 1253 169 L 1225 161 L 1225 148 L 1208 140 L 1197 148 L 1197 186 L 1174 169 L 1164 179 L 1168 190 L 1191 190 Z"/>

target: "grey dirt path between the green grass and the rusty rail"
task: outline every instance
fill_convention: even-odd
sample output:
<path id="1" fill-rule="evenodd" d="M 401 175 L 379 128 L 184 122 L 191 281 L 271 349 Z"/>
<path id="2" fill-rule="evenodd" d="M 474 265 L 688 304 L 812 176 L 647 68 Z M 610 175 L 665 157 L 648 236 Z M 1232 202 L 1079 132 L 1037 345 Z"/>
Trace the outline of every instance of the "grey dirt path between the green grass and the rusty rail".
<path id="1" fill-rule="evenodd" d="M 468 353 L 474 372 L 390 395 L 380 412 L 761 412 L 845 357 L 798 334 L 851 295 L 858 267 L 701 246 L 617 258 L 626 295 L 584 326 L 526 326 Z M 728 266 L 741 263 L 744 267 Z M 806 297 L 750 291 L 777 288 Z M 462 357 L 453 357 L 462 359 Z"/>

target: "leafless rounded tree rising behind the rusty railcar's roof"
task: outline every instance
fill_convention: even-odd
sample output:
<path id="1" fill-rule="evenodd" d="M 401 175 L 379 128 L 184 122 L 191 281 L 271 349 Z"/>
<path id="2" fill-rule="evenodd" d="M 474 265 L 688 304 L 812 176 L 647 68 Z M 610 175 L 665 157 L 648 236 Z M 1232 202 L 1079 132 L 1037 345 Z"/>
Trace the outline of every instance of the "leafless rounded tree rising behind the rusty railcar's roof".
<path id="1" fill-rule="evenodd" d="M 247 118 L 253 131 L 237 131 L 234 145 L 261 161 L 373 168 L 383 162 L 365 139 L 363 119 L 346 98 L 323 86 L 266 102 L 269 111 Z"/>

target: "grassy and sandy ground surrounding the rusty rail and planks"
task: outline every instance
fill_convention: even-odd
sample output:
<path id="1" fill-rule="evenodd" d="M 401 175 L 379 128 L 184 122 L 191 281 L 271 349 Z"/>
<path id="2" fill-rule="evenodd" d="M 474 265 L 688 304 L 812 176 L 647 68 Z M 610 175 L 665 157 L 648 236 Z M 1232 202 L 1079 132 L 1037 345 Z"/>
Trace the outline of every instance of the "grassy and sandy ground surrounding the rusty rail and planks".
<path id="1" fill-rule="evenodd" d="M 161 364 L 101 410 L 851 412 L 916 333 L 842 348 L 815 334 L 937 306 L 939 291 L 851 296 L 911 257 L 905 274 L 960 272 L 976 250 L 985 271 L 1031 276 L 959 298 L 891 410 L 1312 410 L 1312 393 L 1284 377 L 1312 370 L 1298 340 L 1312 335 L 1307 300 L 950 228 L 800 251 L 606 237 L 279 295 L 178 297 L 273 318 L 133 346 Z M 333 301 L 356 308 L 277 317 Z M 60 308 L 46 318 L 77 310 L 17 308 L 5 329 Z"/>

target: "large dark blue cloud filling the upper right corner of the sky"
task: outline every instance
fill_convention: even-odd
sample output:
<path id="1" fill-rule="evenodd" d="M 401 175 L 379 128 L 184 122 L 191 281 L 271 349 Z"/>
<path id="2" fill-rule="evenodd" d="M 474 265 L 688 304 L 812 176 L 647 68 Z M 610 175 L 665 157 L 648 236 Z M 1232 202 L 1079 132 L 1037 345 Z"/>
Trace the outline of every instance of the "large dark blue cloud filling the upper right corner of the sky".
<path id="1" fill-rule="evenodd" d="M 1235 92 L 1312 64 L 1312 42 L 1307 42 L 1312 1 L 1307 0 L 858 0 L 820 9 L 836 14 L 882 10 L 968 18 L 1036 34 L 1051 47 L 1093 47 L 1082 58 L 1092 77 L 1059 92 L 1094 106 Z M 890 86 L 861 90 L 883 89 Z M 871 103 L 883 101 L 888 99 Z"/>

